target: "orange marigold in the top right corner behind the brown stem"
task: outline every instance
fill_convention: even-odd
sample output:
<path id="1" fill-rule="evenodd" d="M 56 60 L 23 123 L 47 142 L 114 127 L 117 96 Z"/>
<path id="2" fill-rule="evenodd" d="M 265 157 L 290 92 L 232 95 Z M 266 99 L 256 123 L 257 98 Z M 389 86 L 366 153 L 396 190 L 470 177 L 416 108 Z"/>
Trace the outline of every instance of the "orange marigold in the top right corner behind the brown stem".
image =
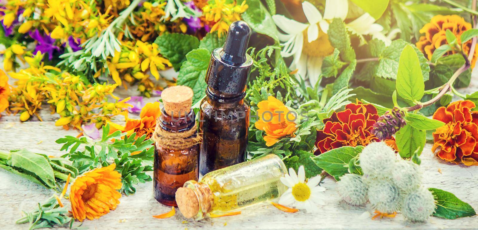
<path id="1" fill-rule="evenodd" d="M 471 29 L 471 24 L 458 15 L 435 15 L 429 23 L 426 23 L 420 30 L 420 33 L 425 33 L 420 37 L 416 43 L 417 48 L 422 51 L 428 60 L 432 60 L 432 55 L 435 49 L 443 44 L 446 44 L 446 30 L 450 30 L 456 36 L 458 45 L 461 46 L 463 52 L 468 54 L 471 48 L 471 40 L 464 44 L 460 41 L 460 36 L 464 31 Z M 455 52 L 449 51 L 447 54 Z M 478 49 L 475 49 L 475 54 L 471 61 L 471 68 L 475 67 L 478 57 Z"/>

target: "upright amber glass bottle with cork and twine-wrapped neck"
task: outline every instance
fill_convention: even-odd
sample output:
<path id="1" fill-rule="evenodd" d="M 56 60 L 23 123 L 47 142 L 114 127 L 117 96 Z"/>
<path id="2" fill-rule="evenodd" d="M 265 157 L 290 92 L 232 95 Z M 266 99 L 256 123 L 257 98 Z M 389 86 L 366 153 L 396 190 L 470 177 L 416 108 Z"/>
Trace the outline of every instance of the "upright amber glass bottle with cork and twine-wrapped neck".
<path id="1" fill-rule="evenodd" d="M 174 194 L 188 180 L 199 176 L 199 143 L 195 114 L 191 109 L 193 91 L 172 86 L 163 91 L 163 111 L 153 134 L 154 198 L 176 206 Z"/>

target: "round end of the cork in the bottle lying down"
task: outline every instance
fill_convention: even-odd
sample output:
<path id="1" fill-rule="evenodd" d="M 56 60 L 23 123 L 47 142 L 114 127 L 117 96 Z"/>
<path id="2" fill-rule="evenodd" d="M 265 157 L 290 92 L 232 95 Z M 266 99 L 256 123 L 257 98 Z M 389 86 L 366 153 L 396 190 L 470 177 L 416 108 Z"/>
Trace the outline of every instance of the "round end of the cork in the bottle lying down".
<path id="1" fill-rule="evenodd" d="M 199 212 L 199 201 L 191 188 L 178 188 L 176 204 L 185 218 L 193 218 Z"/>

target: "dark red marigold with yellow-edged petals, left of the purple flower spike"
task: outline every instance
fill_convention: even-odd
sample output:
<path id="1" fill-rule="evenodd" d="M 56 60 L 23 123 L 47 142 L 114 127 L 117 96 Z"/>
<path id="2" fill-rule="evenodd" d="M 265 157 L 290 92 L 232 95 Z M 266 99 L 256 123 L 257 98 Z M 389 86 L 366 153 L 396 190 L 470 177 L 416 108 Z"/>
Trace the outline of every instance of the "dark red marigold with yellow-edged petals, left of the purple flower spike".
<path id="1" fill-rule="evenodd" d="M 348 104 L 344 111 L 334 112 L 330 118 L 324 119 L 324 129 L 317 130 L 315 155 L 342 146 L 366 146 L 380 141 L 371 133 L 378 118 L 375 106 L 361 102 Z M 387 142 L 387 145 L 393 146 L 394 143 Z"/>

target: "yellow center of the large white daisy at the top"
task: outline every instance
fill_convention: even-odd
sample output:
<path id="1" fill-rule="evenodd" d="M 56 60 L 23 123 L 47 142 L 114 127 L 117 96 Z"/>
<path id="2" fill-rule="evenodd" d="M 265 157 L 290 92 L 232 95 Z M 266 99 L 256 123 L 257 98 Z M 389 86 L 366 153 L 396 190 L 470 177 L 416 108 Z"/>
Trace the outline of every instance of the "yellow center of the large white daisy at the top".
<path id="1" fill-rule="evenodd" d="M 317 25 L 318 26 L 318 25 Z M 312 57 L 325 57 L 334 52 L 334 47 L 328 40 L 328 35 L 324 33 L 319 27 L 319 36 L 315 41 L 307 41 L 307 30 L 304 30 L 304 45 L 302 53 Z"/>

